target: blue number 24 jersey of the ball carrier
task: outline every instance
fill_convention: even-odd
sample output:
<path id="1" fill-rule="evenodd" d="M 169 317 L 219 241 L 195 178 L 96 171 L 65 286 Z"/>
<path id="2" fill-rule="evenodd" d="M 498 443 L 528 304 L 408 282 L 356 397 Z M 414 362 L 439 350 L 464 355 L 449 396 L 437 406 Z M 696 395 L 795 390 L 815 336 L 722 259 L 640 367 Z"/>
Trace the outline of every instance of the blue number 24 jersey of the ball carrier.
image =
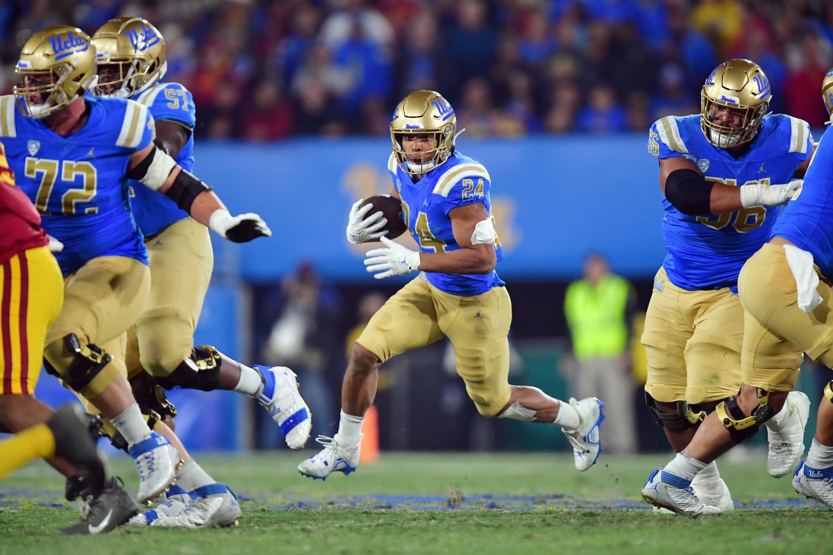
<path id="1" fill-rule="evenodd" d="M 455 152 L 448 160 L 426 173 L 414 183 L 391 155 L 387 169 L 393 185 L 402 198 L 405 223 L 422 252 L 460 250 L 451 230 L 448 213 L 457 206 L 481 202 L 491 215 L 489 189 L 491 179 L 486 168 L 468 156 Z M 500 240 L 495 240 L 497 260 L 503 257 Z M 426 272 L 426 278 L 437 289 L 451 295 L 480 295 L 496 285 L 505 285 L 497 272 L 485 275 L 436 274 Z"/>

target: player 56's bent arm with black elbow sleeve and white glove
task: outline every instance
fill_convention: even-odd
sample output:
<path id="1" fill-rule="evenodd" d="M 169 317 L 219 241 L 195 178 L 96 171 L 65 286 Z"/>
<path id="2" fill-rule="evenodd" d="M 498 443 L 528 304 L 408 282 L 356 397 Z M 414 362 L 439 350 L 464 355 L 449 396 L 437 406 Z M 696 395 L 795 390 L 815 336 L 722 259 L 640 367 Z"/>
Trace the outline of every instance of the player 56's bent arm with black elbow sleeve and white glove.
<path id="1" fill-rule="evenodd" d="M 795 183 L 739 187 L 706 181 L 694 162 L 681 157 L 660 159 L 660 189 L 678 211 L 688 216 L 726 214 L 750 206 L 776 206 L 790 200 Z"/>

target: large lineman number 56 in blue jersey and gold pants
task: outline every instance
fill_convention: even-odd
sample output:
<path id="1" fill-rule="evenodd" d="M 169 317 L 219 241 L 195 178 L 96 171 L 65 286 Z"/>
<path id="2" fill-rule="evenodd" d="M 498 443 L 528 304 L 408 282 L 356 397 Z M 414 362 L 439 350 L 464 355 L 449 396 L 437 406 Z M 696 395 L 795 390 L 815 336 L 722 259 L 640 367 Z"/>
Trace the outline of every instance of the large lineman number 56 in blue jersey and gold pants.
<path id="1" fill-rule="evenodd" d="M 744 339 L 750 318 L 745 320 L 737 295 L 738 274 L 770 237 L 778 206 L 801 185 L 790 180 L 804 175 L 813 153 L 806 121 L 767 114 L 770 100 L 761 67 L 733 59 L 706 79 L 700 114 L 667 116 L 651 126 L 648 150 L 659 159 L 668 255 L 654 279 L 642 335 L 646 402 L 679 460 L 693 456 L 689 442 L 706 431 L 704 419 L 722 426 L 712 411 L 736 404 L 741 367 L 746 373 L 757 364 Z M 799 356 L 778 361 L 778 367 L 788 364 L 797 374 L 800 363 Z M 804 452 L 809 400 L 785 393 L 770 409 L 776 415 L 767 424 L 767 470 L 777 478 L 790 473 Z M 724 432 L 730 443 L 740 443 L 755 429 Z M 643 497 L 675 512 L 733 508 L 714 458 L 698 463 L 696 473 L 676 473 L 671 466 L 656 471 Z"/>

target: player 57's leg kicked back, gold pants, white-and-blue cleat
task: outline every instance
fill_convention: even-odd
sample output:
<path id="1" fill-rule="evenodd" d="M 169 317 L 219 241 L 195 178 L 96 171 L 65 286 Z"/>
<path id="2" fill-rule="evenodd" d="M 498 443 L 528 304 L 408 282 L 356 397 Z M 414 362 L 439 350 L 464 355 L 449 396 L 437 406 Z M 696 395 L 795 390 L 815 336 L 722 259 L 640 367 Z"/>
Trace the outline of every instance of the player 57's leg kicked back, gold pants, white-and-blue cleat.
<path id="1" fill-rule="evenodd" d="M 227 389 L 247 394 L 272 414 L 290 448 L 302 448 L 312 419 L 292 370 L 250 368 L 211 345 L 193 346 L 213 265 L 207 228 L 184 218 L 148 240 L 147 250 L 152 287 L 134 326 L 137 340 L 128 343 L 130 375 L 140 365 L 165 389 Z"/>

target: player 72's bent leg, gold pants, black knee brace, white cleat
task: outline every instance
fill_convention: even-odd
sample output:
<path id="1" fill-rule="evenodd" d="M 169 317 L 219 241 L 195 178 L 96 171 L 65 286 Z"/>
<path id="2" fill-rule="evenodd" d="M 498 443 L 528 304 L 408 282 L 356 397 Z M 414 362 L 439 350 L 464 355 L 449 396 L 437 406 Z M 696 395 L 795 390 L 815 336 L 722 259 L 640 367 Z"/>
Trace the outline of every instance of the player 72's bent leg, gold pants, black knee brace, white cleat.
<path id="1" fill-rule="evenodd" d="M 88 399 L 127 440 L 139 470 L 140 502 L 174 479 L 179 455 L 152 433 L 127 384 L 122 359 L 97 346 L 119 337 L 141 313 L 149 290 L 147 265 L 122 256 L 90 260 L 67 279 L 61 314 L 47 332 L 47 369 Z"/>

